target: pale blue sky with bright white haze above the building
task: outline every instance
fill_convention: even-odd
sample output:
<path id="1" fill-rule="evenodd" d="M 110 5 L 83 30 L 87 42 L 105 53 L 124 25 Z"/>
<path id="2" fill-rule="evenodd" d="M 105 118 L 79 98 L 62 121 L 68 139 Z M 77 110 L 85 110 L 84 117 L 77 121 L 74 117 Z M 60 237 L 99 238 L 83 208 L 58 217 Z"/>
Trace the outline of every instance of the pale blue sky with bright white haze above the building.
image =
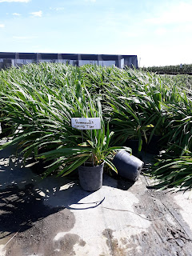
<path id="1" fill-rule="evenodd" d="M 0 0 L 0 52 L 137 55 L 192 63 L 192 0 Z"/>

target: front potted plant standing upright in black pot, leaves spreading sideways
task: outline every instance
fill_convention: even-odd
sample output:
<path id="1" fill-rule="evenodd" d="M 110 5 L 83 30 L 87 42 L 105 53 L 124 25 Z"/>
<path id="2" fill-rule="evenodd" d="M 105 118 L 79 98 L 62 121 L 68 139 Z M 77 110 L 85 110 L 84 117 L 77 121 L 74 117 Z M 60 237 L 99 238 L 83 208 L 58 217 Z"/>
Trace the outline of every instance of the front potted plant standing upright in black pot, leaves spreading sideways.
<path id="1" fill-rule="evenodd" d="M 101 130 L 93 130 L 93 132 L 86 130 L 84 134 L 86 141 L 78 144 L 78 146 L 73 148 L 62 146 L 58 150 L 40 154 L 38 158 L 46 158 L 47 161 L 56 158 L 56 161 L 48 166 L 44 177 L 58 167 L 58 176 L 65 176 L 78 169 L 82 189 L 98 190 L 102 186 L 102 173 L 105 163 L 116 173 L 118 172 L 112 162 L 114 152 L 117 150 L 131 152 L 130 148 L 126 146 L 110 146 L 110 139 L 113 134 L 114 132 L 109 130 L 109 125 L 105 130 L 104 121 L 102 120 Z"/>

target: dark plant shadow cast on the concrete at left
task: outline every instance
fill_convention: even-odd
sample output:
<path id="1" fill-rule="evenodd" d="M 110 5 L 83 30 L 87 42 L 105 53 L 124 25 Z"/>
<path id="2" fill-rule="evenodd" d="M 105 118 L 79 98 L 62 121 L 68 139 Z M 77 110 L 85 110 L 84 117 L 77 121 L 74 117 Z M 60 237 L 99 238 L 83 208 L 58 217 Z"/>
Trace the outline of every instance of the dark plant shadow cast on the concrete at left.
<path id="1" fill-rule="evenodd" d="M 0 238 L 28 230 L 65 208 L 90 209 L 102 203 L 79 202 L 91 193 L 83 191 L 77 180 L 53 176 L 42 180 L 14 153 L 11 147 L 0 151 Z"/>

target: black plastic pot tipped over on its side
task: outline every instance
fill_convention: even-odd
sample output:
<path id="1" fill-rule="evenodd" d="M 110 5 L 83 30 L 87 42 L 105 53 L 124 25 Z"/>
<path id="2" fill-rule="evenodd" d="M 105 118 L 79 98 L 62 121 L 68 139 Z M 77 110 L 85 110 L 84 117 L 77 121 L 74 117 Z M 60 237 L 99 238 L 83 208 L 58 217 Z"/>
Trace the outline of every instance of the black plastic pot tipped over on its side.
<path id="1" fill-rule="evenodd" d="M 115 155 L 113 163 L 120 176 L 128 178 L 133 182 L 137 181 L 142 166 L 144 166 L 144 162 L 134 157 L 134 155 L 130 155 L 130 153 L 125 150 L 120 150 L 118 154 Z"/>

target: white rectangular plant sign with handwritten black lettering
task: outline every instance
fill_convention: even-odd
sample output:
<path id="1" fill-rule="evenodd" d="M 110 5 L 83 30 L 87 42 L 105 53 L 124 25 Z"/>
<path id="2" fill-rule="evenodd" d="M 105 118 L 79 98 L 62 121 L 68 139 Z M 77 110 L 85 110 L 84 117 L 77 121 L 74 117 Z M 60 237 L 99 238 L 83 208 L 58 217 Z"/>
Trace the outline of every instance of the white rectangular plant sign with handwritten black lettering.
<path id="1" fill-rule="evenodd" d="M 78 130 L 101 129 L 101 118 L 71 118 L 71 126 Z"/>

